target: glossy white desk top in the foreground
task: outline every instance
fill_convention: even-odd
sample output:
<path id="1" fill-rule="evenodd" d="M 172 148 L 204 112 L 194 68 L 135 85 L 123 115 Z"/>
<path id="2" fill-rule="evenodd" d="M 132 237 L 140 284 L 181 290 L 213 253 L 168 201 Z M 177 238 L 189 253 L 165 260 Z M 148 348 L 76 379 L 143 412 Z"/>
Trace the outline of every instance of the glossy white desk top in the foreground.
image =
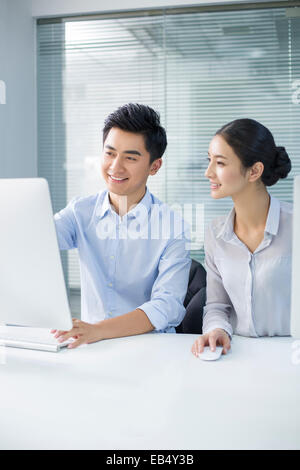
<path id="1" fill-rule="evenodd" d="M 47 353 L 6 348 L 1 449 L 300 449 L 291 338 L 234 337 L 216 362 L 197 336 L 148 334 Z"/>

